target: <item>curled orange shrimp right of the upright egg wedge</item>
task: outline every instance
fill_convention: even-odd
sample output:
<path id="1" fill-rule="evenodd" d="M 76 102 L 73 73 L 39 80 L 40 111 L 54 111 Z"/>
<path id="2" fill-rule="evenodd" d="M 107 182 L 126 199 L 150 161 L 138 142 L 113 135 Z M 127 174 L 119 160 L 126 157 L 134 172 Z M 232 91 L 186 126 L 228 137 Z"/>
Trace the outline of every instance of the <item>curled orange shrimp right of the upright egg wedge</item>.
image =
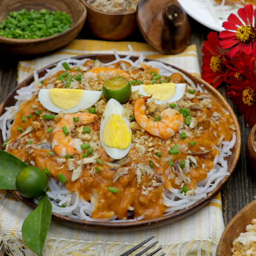
<path id="1" fill-rule="evenodd" d="M 183 127 L 184 118 L 178 111 L 166 109 L 161 113 L 161 121 L 153 121 L 145 115 L 148 96 L 139 97 L 134 104 L 134 117 L 148 133 L 163 139 L 174 136 Z"/>

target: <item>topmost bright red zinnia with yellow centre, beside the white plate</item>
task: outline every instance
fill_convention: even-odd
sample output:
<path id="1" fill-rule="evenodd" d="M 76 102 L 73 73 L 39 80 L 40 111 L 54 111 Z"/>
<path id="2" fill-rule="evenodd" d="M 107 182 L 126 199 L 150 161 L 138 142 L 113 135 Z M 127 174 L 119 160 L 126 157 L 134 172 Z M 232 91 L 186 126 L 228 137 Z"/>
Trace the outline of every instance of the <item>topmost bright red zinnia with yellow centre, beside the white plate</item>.
<path id="1" fill-rule="evenodd" d="M 221 46 L 231 48 L 228 52 L 230 58 L 238 52 L 256 56 L 256 9 L 253 13 L 253 5 L 246 5 L 238 10 L 238 16 L 231 13 L 228 21 L 222 24 L 227 30 L 220 32 Z"/>

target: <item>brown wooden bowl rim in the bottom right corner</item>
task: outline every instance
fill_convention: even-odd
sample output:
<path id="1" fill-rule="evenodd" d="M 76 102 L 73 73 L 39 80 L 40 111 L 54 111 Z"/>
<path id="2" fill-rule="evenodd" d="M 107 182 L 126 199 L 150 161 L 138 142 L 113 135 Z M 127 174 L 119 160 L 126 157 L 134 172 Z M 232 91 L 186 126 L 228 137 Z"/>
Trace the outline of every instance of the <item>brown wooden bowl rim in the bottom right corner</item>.
<path id="1" fill-rule="evenodd" d="M 238 212 L 236 216 L 228 223 L 222 233 L 217 247 L 217 256 L 232 255 L 231 248 L 234 239 L 238 238 L 241 232 L 256 218 L 256 200 L 253 200 Z"/>

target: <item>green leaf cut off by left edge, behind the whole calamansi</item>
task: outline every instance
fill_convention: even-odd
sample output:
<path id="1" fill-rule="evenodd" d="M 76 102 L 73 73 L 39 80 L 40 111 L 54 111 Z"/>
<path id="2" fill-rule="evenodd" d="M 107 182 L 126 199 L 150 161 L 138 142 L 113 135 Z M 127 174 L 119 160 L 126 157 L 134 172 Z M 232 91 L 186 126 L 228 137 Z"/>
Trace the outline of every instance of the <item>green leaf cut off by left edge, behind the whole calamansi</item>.
<path id="1" fill-rule="evenodd" d="M 20 170 L 27 165 L 22 160 L 0 150 L 0 189 L 16 189 L 15 181 Z"/>

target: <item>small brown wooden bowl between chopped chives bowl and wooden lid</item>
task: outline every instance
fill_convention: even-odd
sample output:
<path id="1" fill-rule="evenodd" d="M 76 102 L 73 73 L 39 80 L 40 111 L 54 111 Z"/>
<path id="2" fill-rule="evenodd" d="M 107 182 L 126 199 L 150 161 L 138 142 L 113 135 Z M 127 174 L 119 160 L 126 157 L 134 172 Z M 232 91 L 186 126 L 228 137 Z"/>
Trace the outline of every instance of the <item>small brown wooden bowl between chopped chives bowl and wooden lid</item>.
<path id="1" fill-rule="evenodd" d="M 120 40 L 130 36 L 137 26 L 136 11 L 108 13 L 99 11 L 82 0 L 87 8 L 87 25 L 92 34 L 108 40 Z"/>

